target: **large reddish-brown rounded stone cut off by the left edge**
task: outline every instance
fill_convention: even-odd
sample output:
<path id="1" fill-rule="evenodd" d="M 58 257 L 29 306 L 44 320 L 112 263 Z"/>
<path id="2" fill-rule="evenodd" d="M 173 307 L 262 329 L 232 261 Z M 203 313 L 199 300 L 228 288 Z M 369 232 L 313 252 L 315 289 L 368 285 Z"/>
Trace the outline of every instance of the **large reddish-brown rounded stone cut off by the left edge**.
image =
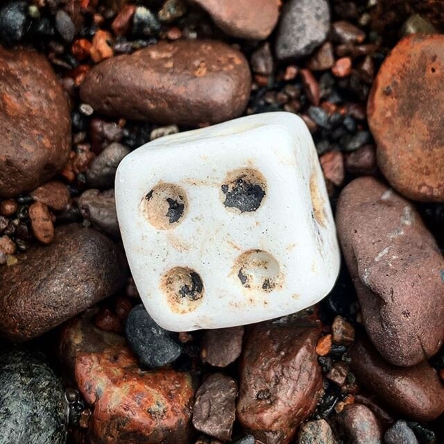
<path id="1" fill-rule="evenodd" d="M 71 119 L 62 87 L 36 51 L 0 46 L 0 196 L 17 196 L 68 160 Z"/>

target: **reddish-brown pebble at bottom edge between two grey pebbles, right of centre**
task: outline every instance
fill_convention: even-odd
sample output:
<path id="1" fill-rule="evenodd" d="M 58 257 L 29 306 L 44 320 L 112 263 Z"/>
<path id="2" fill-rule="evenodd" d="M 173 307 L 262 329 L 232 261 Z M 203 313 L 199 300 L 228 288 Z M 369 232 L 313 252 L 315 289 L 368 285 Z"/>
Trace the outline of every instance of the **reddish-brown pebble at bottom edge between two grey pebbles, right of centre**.
<path id="1" fill-rule="evenodd" d="M 382 444 L 382 429 L 373 412 L 362 404 L 347 404 L 337 418 L 348 442 Z"/>

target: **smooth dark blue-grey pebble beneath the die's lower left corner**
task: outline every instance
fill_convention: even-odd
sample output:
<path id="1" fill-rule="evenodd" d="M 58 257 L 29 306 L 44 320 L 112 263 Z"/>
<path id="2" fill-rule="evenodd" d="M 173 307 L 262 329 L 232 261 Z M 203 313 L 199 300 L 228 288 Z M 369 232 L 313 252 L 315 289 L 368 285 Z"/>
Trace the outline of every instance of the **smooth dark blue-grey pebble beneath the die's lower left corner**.
<path id="1" fill-rule="evenodd" d="M 182 354 L 182 345 L 171 332 L 153 321 L 142 304 L 130 311 L 125 334 L 140 364 L 147 368 L 166 366 Z"/>

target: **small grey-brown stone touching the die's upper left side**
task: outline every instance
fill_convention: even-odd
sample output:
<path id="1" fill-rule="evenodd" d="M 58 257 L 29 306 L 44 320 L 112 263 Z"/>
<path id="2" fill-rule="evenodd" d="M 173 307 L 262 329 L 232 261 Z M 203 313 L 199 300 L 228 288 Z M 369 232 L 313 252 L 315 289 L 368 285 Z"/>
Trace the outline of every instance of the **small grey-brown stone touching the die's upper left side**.
<path id="1" fill-rule="evenodd" d="M 91 163 L 86 180 L 89 187 L 99 189 L 109 189 L 114 185 L 119 163 L 127 154 L 130 148 L 114 142 L 107 146 Z"/>

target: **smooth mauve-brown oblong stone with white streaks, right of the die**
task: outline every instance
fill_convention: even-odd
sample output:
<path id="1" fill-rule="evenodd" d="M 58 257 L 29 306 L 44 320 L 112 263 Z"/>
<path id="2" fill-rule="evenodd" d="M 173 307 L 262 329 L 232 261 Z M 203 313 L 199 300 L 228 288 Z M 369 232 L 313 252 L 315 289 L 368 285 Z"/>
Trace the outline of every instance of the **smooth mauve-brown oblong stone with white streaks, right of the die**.
<path id="1" fill-rule="evenodd" d="M 374 178 L 339 197 L 336 225 L 364 325 L 387 361 L 411 366 L 444 337 L 444 259 L 410 203 Z"/>

